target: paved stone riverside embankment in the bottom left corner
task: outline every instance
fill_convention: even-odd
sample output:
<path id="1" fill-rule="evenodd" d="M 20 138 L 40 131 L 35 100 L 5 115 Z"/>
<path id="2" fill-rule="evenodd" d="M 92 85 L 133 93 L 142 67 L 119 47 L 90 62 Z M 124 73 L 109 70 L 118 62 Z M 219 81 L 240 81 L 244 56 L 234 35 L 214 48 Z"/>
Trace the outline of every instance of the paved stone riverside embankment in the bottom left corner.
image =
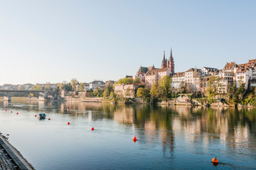
<path id="1" fill-rule="evenodd" d="M 9 169 L 30 170 L 34 168 L 17 149 L 0 135 L 0 170 Z"/>

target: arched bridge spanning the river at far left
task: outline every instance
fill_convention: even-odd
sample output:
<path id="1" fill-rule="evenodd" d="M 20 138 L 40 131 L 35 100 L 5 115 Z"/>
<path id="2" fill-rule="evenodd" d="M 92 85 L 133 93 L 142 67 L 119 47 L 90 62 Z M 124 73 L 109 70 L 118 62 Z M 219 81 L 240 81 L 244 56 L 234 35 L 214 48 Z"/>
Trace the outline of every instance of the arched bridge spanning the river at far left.
<path id="1" fill-rule="evenodd" d="M 16 96 L 18 94 L 36 94 L 43 99 L 47 99 L 48 95 L 53 96 L 55 94 L 54 90 L 0 90 L 0 95 L 4 96 L 4 101 L 11 101 L 11 96 Z"/>

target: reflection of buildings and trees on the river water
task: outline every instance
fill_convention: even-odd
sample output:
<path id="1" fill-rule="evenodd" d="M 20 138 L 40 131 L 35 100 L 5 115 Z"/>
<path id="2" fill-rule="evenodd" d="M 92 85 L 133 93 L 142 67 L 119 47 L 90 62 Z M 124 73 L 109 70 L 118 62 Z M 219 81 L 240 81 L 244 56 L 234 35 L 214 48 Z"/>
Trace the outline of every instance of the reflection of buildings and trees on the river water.
<path id="1" fill-rule="evenodd" d="M 214 152 L 227 159 L 237 154 L 251 159 L 251 164 L 255 161 L 256 109 L 70 101 L 12 101 L 1 105 L 35 113 L 69 115 L 74 119 L 84 118 L 88 122 L 113 120 L 134 129 L 140 144 L 161 146 L 163 158 L 174 159 L 175 154 L 180 152 L 190 155 Z"/>

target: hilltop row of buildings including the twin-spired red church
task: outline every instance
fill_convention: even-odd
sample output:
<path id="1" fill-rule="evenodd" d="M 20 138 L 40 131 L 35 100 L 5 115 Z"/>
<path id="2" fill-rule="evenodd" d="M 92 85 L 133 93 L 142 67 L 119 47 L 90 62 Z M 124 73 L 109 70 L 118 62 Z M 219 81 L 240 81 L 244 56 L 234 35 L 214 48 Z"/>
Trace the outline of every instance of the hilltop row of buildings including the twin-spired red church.
<path id="1" fill-rule="evenodd" d="M 227 62 L 223 69 L 202 67 L 201 69 L 191 68 L 186 72 L 174 72 L 174 59 L 171 50 L 169 60 L 165 59 L 164 52 L 161 68 L 155 68 L 154 65 L 151 67 L 140 66 L 133 79 L 138 77 L 142 84 L 150 87 L 166 75 L 172 77 L 172 89 L 174 91 L 179 91 L 182 86 L 187 86 L 189 91 L 206 92 L 210 77 L 219 77 L 218 93 L 226 94 L 228 87 L 233 84 L 239 87 L 242 83 L 245 85 L 245 89 L 256 86 L 256 59 L 249 60 L 245 64 Z"/>

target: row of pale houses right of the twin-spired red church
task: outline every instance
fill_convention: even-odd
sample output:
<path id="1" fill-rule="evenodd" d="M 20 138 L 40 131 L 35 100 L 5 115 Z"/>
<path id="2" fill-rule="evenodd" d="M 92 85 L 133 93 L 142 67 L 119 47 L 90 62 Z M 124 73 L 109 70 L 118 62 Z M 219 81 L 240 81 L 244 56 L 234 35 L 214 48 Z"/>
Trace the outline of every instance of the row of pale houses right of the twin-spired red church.
<path id="1" fill-rule="evenodd" d="M 191 68 L 186 72 L 178 72 L 170 76 L 172 77 L 172 87 L 176 90 L 187 84 L 191 91 L 203 92 L 207 88 L 207 81 L 210 77 L 219 77 L 218 93 L 226 94 L 228 86 L 233 84 L 237 87 L 240 84 L 244 84 L 245 89 L 256 86 L 256 59 L 249 60 L 245 64 L 228 62 L 223 69 L 211 67 L 203 67 L 202 69 Z"/>

